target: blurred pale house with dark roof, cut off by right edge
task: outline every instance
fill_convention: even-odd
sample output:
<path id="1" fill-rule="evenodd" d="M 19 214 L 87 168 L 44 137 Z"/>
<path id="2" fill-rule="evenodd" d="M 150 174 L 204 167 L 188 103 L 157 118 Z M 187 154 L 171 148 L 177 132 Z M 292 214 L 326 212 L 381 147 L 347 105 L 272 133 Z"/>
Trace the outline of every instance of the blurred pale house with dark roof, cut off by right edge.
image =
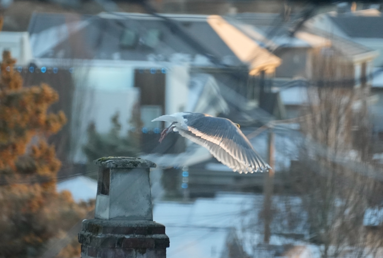
<path id="1" fill-rule="evenodd" d="M 367 77 L 371 87 L 369 111 L 372 117 L 374 152 L 383 151 L 383 16 L 375 8 L 352 11 L 350 8 L 314 16 L 307 22 L 311 29 L 326 31 L 331 37 L 342 38 L 376 51 L 369 62 L 358 61 L 355 76 Z"/>

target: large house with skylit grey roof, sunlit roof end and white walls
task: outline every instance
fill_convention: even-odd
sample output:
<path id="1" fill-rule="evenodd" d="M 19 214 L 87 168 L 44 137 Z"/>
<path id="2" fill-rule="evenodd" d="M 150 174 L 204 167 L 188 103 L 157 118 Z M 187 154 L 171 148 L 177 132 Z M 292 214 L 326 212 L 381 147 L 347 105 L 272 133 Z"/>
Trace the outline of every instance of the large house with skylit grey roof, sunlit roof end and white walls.
<path id="1" fill-rule="evenodd" d="M 125 121 L 135 104 L 143 123 L 136 128 L 142 130 L 143 151 L 179 153 L 185 143 L 176 136 L 156 147 L 163 125 L 152 123 L 153 118 L 180 111 L 218 115 L 254 109 L 240 99 L 246 96 L 249 74 L 259 74 L 262 67 L 272 74 L 280 64 L 220 16 L 35 13 L 29 34 L 36 71 L 69 71 L 73 79 L 75 162 L 84 161 L 81 146 L 88 123 L 106 132 L 118 111 L 123 131 L 129 129 Z M 254 53 L 263 59 L 253 61 Z"/>

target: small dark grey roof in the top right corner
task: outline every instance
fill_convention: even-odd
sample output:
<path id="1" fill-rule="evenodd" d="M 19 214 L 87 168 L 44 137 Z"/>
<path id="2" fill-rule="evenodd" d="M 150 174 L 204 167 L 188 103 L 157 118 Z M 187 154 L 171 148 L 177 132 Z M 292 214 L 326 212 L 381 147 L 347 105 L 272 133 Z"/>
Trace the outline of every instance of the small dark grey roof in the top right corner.
<path id="1" fill-rule="evenodd" d="M 329 16 L 352 38 L 383 38 L 383 16 Z"/>

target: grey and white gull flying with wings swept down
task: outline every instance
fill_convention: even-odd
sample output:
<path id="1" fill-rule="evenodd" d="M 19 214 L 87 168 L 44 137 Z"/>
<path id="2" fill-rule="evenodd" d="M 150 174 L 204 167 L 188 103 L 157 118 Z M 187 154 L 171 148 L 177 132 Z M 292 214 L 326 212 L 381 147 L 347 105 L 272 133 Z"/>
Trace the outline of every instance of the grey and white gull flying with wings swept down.
<path id="1" fill-rule="evenodd" d="M 171 123 L 161 133 L 160 142 L 170 131 L 204 146 L 222 164 L 234 172 L 265 171 L 270 166 L 263 161 L 239 127 L 227 118 L 212 117 L 203 113 L 178 112 L 162 115 L 153 121 Z"/>

